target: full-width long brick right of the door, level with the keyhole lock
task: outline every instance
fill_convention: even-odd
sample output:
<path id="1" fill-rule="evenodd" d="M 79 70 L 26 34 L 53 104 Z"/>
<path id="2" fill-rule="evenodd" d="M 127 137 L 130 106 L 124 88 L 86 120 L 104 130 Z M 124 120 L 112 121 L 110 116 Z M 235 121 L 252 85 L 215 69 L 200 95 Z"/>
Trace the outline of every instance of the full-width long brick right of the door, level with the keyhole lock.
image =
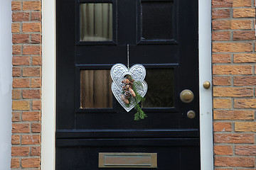
<path id="1" fill-rule="evenodd" d="M 254 111 L 213 111 L 214 120 L 254 120 Z"/>

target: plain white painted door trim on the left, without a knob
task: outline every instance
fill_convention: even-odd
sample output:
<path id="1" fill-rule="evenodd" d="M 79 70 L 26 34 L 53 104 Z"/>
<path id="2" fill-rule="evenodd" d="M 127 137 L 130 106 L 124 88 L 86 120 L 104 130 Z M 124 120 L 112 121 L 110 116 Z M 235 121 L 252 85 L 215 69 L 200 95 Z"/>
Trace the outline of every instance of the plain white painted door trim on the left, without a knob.
<path id="1" fill-rule="evenodd" d="M 55 169 L 55 1 L 42 1 L 41 169 Z"/>

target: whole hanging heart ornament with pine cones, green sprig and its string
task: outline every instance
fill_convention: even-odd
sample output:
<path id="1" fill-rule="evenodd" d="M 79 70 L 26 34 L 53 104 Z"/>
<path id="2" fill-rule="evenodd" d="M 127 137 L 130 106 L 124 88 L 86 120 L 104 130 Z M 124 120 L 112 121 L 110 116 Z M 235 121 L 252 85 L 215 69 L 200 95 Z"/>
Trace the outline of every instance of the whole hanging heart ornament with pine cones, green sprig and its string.
<path id="1" fill-rule="evenodd" d="M 146 81 L 146 69 L 142 64 L 134 64 L 129 67 L 129 45 L 127 45 L 127 67 L 124 64 L 114 64 L 110 70 L 112 78 L 112 93 L 125 111 L 129 112 L 135 108 L 137 113 L 134 120 L 146 118 L 146 114 L 139 106 L 144 101 L 148 86 Z"/>

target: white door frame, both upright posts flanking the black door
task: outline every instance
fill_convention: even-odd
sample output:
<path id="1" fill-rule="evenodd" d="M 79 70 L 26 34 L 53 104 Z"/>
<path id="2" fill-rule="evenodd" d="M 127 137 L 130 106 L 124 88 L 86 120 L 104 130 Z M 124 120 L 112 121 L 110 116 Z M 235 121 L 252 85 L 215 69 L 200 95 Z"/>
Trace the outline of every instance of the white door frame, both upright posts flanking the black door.
<path id="1" fill-rule="evenodd" d="M 212 89 L 203 82 L 211 74 L 211 0 L 198 0 L 199 100 L 201 169 L 213 170 L 213 109 Z M 55 1 L 42 0 L 42 134 L 41 169 L 55 169 L 55 84 L 56 38 Z"/>

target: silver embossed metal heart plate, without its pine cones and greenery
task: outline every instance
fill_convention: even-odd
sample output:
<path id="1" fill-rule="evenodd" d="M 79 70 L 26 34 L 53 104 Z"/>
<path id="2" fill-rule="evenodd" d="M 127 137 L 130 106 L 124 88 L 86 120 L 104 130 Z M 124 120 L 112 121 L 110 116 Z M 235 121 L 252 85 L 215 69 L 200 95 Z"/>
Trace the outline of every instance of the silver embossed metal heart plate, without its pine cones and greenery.
<path id="1" fill-rule="evenodd" d="M 136 86 L 137 93 L 142 97 L 146 95 L 148 86 L 146 84 L 146 81 L 144 81 L 146 77 L 146 69 L 142 64 L 134 64 L 129 69 L 127 69 L 127 67 L 121 63 L 114 64 L 112 66 L 110 70 L 110 76 L 113 81 L 111 84 L 112 93 L 114 94 L 114 97 L 117 98 L 117 101 L 120 103 L 120 105 L 125 109 L 125 111 L 129 112 L 132 110 L 132 108 L 134 108 L 136 102 L 135 99 L 132 98 L 129 107 L 127 107 L 121 98 L 122 86 L 124 86 L 124 84 L 122 84 L 122 80 L 127 74 L 132 76 L 132 79 L 134 79 L 134 81 L 142 82 L 142 86 Z"/>

